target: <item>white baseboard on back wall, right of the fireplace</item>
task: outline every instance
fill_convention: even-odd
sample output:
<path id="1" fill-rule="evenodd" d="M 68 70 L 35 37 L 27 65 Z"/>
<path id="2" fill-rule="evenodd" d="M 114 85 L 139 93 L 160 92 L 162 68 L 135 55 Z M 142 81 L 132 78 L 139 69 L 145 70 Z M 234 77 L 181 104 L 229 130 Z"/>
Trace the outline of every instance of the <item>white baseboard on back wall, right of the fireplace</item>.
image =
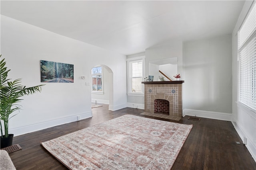
<path id="1" fill-rule="evenodd" d="M 226 120 L 226 121 L 232 120 L 231 113 L 221 113 L 221 112 L 214 112 L 214 111 L 183 109 L 183 117 L 186 115 L 204 117 L 209 119 Z"/>

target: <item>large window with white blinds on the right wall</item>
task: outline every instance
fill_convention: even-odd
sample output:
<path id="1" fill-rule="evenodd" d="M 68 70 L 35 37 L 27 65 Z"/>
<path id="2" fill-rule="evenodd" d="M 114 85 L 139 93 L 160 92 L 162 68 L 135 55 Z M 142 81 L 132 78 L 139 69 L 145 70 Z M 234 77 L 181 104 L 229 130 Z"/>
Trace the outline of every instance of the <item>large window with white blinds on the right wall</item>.
<path id="1" fill-rule="evenodd" d="M 256 5 L 238 31 L 238 101 L 256 110 Z"/>

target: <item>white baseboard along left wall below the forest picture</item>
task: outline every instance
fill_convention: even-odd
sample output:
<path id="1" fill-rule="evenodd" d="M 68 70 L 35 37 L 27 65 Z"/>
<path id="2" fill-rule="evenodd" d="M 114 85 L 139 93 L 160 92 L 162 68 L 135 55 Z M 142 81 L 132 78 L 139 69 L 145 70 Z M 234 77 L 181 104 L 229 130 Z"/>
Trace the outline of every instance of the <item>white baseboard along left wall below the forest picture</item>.
<path id="1" fill-rule="evenodd" d="M 76 115 L 68 115 L 64 117 L 58 117 L 56 119 L 52 120 L 47 120 L 47 121 L 41 121 L 41 122 L 36 122 L 30 125 L 24 125 L 20 127 L 14 127 L 9 129 L 10 134 L 14 134 L 14 136 L 19 136 L 19 135 L 24 135 L 26 133 L 31 133 L 35 131 L 40 131 L 42 129 L 47 129 L 49 127 L 54 127 L 58 125 L 63 125 L 66 123 L 71 123 L 74 121 L 82 120 L 92 117 L 92 112 L 87 112 L 87 113 L 79 113 Z"/>

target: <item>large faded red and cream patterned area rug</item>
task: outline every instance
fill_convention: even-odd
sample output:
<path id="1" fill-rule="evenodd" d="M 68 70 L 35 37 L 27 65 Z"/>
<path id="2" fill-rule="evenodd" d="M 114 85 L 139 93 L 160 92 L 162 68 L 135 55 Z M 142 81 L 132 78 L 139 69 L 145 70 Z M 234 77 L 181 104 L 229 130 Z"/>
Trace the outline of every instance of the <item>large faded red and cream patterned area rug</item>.
<path id="1" fill-rule="evenodd" d="M 41 145 L 72 170 L 170 170 L 191 129 L 124 115 Z"/>

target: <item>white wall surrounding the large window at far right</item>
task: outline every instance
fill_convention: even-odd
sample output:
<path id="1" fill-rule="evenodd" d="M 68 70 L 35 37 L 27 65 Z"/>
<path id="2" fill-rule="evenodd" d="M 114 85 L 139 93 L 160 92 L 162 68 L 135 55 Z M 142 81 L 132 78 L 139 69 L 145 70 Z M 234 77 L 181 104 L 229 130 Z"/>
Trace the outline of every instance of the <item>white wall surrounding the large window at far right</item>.
<path id="1" fill-rule="evenodd" d="M 236 26 L 232 33 L 232 123 L 238 132 L 238 135 L 244 141 L 247 139 L 245 145 L 254 160 L 256 161 L 256 113 L 238 104 L 238 88 L 237 88 L 237 74 L 238 74 L 238 37 L 237 32 L 244 20 L 252 1 L 246 1 L 240 13 Z M 244 141 L 245 142 L 245 141 Z"/>

